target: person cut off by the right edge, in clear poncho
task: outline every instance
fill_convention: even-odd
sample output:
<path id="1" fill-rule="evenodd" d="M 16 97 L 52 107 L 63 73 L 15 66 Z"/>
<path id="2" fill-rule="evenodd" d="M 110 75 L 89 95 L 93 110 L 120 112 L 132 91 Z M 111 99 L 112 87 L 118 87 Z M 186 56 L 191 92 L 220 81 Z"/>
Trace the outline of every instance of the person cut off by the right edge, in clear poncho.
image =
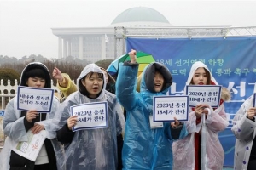
<path id="1" fill-rule="evenodd" d="M 246 99 L 233 118 L 232 132 L 236 136 L 234 169 L 254 170 L 256 167 L 256 107 L 255 94 Z"/>

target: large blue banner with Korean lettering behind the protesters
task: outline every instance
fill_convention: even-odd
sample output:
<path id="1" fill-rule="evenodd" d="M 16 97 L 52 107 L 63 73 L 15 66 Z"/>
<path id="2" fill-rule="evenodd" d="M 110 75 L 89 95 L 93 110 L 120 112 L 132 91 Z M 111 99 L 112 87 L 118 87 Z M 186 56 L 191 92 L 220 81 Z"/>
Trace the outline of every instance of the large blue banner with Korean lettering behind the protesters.
<path id="1" fill-rule="evenodd" d="M 172 72 L 170 94 L 183 94 L 191 65 L 205 63 L 219 85 L 231 92 L 225 111 L 230 125 L 219 133 L 224 147 L 225 166 L 233 166 L 235 136 L 231 132 L 232 118 L 242 102 L 253 94 L 256 82 L 256 37 L 227 38 L 126 38 L 126 51 L 131 49 L 152 54 L 155 61 L 165 64 Z"/>

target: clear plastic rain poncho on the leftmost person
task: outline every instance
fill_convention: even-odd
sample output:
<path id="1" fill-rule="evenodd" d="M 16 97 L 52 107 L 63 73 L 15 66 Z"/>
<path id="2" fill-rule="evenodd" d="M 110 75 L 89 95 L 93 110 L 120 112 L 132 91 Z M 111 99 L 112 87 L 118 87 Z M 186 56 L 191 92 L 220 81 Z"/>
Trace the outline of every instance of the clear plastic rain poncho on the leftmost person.
<path id="1" fill-rule="evenodd" d="M 46 88 L 50 88 L 50 75 L 49 71 L 46 68 L 45 65 L 38 62 L 30 63 L 29 65 L 26 65 L 24 70 L 21 73 L 20 77 L 20 85 L 24 86 L 26 82 L 24 82 L 24 75 L 28 69 L 31 69 L 33 67 L 40 67 L 43 68 L 46 72 L 48 77 L 48 81 L 46 81 Z M 59 107 L 59 101 L 57 99 L 53 99 L 52 108 L 49 113 L 46 113 L 46 119 L 44 121 L 36 122 L 40 125 L 44 125 L 44 129 L 46 131 L 46 138 L 50 139 L 51 144 L 55 148 L 55 156 L 58 160 L 58 156 L 62 156 L 62 147 L 59 142 L 55 139 L 56 133 L 52 130 L 52 118 L 55 116 L 55 111 Z M 6 106 L 4 116 L 3 116 L 3 128 L 4 128 L 4 134 L 7 135 L 7 138 L 5 140 L 5 143 L 3 145 L 3 150 L 1 151 L 0 156 L 0 170 L 7 170 L 9 169 L 9 161 L 10 161 L 10 153 L 11 148 L 14 144 L 21 141 L 28 141 L 27 135 L 26 135 L 26 128 L 24 125 L 24 119 L 25 117 L 21 115 L 21 111 L 17 110 L 17 97 L 14 97 L 11 99 Z M 19 161 L 19 160 L 18 160 Z M 28 168 L 30 169 L 30 168 Z"/>

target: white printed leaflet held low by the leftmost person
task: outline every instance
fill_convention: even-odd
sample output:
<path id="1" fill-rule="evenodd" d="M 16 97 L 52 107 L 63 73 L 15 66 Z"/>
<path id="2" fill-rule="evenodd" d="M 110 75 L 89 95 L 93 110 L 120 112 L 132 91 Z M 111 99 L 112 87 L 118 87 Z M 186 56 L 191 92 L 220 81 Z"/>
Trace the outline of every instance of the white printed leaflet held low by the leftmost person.
<path id="1" fill-rule="evenodd" d="M 18 142 L 16 143 L 12 150 L 20 155 L 25 157 L 26 159 L 29 159 L 31 161 L 36 161 L 38 157 L 38 153 L 41 150 L 44 140 L 46 137 L 46 131 L 42 130 L 38 134 L 32 134 L 31 130 L 29 130 L 27 133 L 27 142 Z"/>

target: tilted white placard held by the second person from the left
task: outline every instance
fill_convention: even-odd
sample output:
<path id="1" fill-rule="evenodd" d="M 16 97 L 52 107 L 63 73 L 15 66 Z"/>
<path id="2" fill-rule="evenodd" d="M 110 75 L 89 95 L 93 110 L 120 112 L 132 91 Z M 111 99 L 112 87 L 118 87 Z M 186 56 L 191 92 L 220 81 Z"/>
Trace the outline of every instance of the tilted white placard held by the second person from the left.
<path id="1" fill-rule="evenodd" d="M 108 127 L 108 103 L 95 102 L 81 105 L 73 105 L 71 115 L 78 116 L 78 122 L 73 131 L 91 128 Z"/>

